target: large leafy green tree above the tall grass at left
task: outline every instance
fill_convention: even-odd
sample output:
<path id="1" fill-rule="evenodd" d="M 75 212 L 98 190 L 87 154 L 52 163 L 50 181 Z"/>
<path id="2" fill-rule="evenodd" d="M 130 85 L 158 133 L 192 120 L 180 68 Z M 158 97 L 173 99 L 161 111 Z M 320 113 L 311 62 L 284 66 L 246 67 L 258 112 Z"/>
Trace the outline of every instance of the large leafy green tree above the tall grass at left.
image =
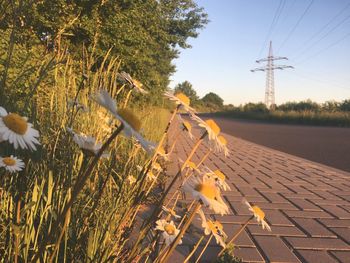
<path id="1" fill-rule="evenodd" d="M 0 11 L 0 34 L 8 36 L 8 43 L 22 49 L 40 46 L 45 54 L 66 48 L 77 60 L 86 56 L 84 49 L 93 51 L 97 65 L 92 70 L 110 50 L 122 60 L 120 70 L 153 94 L 168 86 L 175 71 L 172 60 L 208 22 L 194 0 L 4 0 Z"/>

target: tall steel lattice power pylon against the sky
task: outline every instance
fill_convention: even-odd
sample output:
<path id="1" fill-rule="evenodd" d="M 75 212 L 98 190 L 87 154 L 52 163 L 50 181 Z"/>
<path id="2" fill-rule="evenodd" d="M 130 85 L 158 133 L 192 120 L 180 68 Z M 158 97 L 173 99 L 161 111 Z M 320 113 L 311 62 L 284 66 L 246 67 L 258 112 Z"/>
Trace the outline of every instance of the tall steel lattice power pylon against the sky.
<path id="1" fill-rule="evenodd" d="M 274 80 L 274 70 L 275 69 L 286 69 L 294 68 L 292 66 L 286 65 L 275 65 L 275 60 L 288 60 L 287 57 L 274 57 L 272 53 L 272 41 L 270 41 L 269 55 L 267 58 L 256 60 L 256 63 L 267 62 L 266 66 L 252 69 L 251 72 L 255 71 L 266 71 L 266 89 L 265 89 L 265 105 L 267 108 L 275 107 L 275 80 Z"/>

